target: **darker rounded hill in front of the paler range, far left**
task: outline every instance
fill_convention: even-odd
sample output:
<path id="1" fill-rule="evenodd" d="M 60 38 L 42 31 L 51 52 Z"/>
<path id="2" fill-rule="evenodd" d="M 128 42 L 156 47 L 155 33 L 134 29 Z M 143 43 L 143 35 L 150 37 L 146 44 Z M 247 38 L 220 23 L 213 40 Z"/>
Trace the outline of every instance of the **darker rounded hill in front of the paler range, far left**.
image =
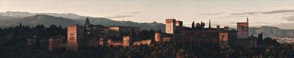
<path id="1" fill-rule="evenodd" d="M 29 25 L 34 27 L 39 24 L 40 25 L 43 24 L 44 26 L 61 25 L 62 27 L 67 27 L 68 25 L 78 24 L 79 22 L 76 22 L 68 18 L 37 14 L 37 15 L 27 16 L 22 18 L 2 20 L 1 27 L 14 27 L 19 25 L 20 23 L 22 23 L 22 25 Z"/>

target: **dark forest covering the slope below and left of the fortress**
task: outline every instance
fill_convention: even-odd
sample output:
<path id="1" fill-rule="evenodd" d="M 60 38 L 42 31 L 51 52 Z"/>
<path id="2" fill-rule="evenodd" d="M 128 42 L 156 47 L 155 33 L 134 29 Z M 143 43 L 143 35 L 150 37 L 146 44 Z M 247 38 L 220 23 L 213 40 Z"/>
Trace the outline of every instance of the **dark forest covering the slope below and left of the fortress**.
<path id="1" fill-rule="evenodd" d="M 155 30 L 142 30 L 129 35 L 153 39 Z M 159 29 L 160 32 L 160 29 Z M 7 40 L 6 34 L 13 33 L 13 40 Z M 276 40 L 265 38 L 259 44 L 273 44 L 266 47 L 221 46 L 202 43 L 201 47 L 191 46 L 195 43 L 177 41 L 157 42 L 134 46 L 84 46 L 79 51 L 57 48 L 49 51 L 48 47 L 36 42 L 27 45 L 26 39 L 35 36 L 37 41 L 48 40 L 50 36 L 67 35 L 67 28 L 51 25 L 35 27 L 19 25 L 0 28 L 0 58 L 293 58 L 294 44 L 278 44 Z M 262 38 L 262 37 L 261 37 Z M 154 40 L 153 40 L 154 41 Z M 48 45 L 48 44 L 47 44 Z"/>

